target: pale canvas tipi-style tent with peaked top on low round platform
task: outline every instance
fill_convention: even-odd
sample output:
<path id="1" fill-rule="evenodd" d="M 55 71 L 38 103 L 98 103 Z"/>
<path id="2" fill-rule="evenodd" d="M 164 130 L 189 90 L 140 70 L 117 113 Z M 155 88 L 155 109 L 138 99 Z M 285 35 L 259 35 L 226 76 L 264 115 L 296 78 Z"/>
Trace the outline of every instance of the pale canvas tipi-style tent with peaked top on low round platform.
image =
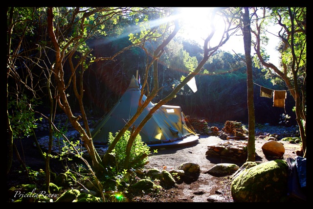
<path id="1" fill-rule="evenodd" d="M 143 95 L 141 103 L 146 100 Z M 95 145 L 107 145 L 109 132 L 113 136 L 124 127 L 126 122 L 134 116 L 137 111 L 140 99 L 139 85 L 133 76 L 127 91 L 121 96 L 109 113 L 103 116 L 94 126 L 91 132 L 92 140 Z M 133 125 L 138 126 L 142 119 L 155 106 L 150 102 Z M 163 105 L 159 108 L 145 124 L 139 133 L 142 141 L 148 145 L 174 143 L 182 141 L 193 135 L 192 139 L 185 141 L 198 140 L 198 136 L 193 134 L 186 126 L 184 117 L 179 106 Z"/>

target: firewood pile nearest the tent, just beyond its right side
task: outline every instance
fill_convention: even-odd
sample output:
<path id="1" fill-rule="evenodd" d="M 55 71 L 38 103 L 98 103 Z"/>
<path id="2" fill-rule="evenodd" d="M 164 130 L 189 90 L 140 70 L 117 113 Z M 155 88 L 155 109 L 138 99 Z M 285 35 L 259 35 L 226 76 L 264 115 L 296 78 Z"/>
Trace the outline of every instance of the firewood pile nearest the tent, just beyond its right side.
<path id="1" fill-rule="evenodd" d="M 197 134 L 218 136 L 219 128 L 216 126 L 209 127 L 205 119 L 187 117 L 186 124 L 189 128 L 194 129 Z"/>

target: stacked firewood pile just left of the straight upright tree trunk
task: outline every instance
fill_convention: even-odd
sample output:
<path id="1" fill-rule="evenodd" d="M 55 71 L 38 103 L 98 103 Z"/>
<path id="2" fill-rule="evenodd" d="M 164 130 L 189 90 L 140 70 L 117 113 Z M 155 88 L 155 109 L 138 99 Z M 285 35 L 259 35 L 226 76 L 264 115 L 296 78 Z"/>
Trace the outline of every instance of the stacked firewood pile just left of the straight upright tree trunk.
<path id="1" fill-rule="evenodd" d="M 246 131 L 243 129 L 242 123 L 227 120 L 222 129 L 227 139 L 246 139 Z"/>

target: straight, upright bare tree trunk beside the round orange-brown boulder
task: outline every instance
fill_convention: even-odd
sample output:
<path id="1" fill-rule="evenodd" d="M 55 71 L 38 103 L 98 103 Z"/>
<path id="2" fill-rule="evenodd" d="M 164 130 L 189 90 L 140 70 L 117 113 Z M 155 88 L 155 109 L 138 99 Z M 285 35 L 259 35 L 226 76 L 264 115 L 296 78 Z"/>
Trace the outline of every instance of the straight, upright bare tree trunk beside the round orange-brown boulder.
<path id="1" fill-rule="evenodd" d="M 252 76 L 252 59 L 251 59 L 251 32 L 249 8 L 245 7 L 243 14 L 243 34 L 244 46 L 246 56 L 246 83 L 247 83 L 247 105 L 248 105 L 248 156 L 247 162 L 255 161 L 255 115 L 254 115 L 254 101 L 253 101 L 253 76 Z"/>

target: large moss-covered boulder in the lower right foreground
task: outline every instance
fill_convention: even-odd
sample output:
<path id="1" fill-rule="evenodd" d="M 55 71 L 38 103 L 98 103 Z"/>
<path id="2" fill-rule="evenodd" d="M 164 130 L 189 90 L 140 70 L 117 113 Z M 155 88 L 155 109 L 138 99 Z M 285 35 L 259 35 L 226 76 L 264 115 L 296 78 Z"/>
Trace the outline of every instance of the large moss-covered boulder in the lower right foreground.
<path id="1" fill-rule="evenodd" d="M 288 169 L 285 160 L 275 160 L 241 171 L 231 183 L 234 202 L 286 201 Z"/>

